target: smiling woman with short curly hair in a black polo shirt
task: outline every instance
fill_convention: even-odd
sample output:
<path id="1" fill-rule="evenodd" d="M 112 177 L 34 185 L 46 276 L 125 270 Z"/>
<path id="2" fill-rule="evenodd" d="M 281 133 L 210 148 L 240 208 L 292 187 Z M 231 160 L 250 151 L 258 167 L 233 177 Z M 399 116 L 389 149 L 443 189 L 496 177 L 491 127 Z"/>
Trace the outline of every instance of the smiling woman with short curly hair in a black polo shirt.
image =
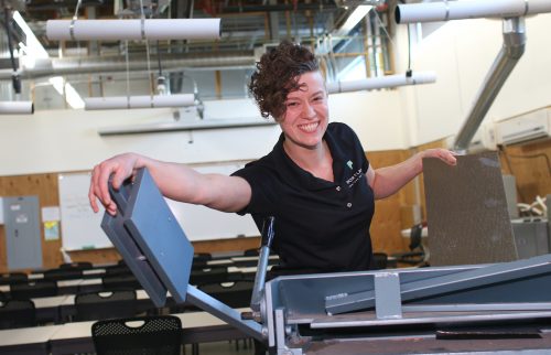
<path id="1" fill-rule="evenodd" d="M 134 153 L 114 157 L 94 169 L 89 200 L 108 213 L 117 189 L 148 168 L 164 196 L 240 215 L 259 230 L 276 218 L 272 249 L 280 265 L 272 275 L 367 270 L 371 266 L 369 227 L 374 200 L 393 194 L 422 171 L 422 158 L 455 163 L 447 150 L 428 150 L 397 165 L 375 170 L 353 129 L 328 122 L 327 93 L 313 52 L 282 42 L 263 54 L 251 76 L 261 115 L 272 116 L 282 133 L 272 151 L 230 176 Z"/>

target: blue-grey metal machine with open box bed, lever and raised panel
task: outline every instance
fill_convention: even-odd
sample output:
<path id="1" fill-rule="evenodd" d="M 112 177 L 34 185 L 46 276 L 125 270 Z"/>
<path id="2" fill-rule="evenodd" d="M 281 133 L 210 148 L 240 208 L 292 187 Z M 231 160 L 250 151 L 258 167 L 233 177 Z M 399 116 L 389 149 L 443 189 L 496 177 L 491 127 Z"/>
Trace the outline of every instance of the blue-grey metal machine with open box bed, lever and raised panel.
<path id="1" fill-rule="evenodd" d="M 241 314 L 187 283 L 193 246 L 145 169 L 110 191 L 119 213 L 101 226 L 154 304 L 163 306 L 170 292 L 272 354 L 551 353 L 551 255 L 266 282 L 276 235 L 268 218 L 251 312 Z"/>

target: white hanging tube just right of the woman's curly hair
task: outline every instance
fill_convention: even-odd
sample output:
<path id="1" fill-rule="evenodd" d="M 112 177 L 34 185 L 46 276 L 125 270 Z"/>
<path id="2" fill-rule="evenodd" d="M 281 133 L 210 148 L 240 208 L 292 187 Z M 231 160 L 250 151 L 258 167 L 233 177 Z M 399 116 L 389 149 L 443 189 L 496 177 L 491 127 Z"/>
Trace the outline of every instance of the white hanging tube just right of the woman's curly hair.
<path id="1" fill-rule="evenodd" d="M 348 93 L 358 90 L 390 88 L 404 85 L 429 84 L 434 82 L 436 82 L 436 73 L 419 72 L 419 73 L 413 73 L 409 77 L 406 76 L 406 74 L 396 74 L 396 75 L 372 77 L 361 80 L 327 83 L 327 92 L 329 94 L 337 94 L 337 93 Z"/>

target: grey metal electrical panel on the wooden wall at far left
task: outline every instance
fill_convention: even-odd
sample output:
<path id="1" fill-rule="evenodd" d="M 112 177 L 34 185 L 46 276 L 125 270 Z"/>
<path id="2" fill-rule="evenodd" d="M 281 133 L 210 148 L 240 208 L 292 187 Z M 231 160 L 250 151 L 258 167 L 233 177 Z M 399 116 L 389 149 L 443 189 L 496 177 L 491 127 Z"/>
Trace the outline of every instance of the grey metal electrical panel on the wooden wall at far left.
<path id="1" fill-rule="evenodd" d="M 39 197 L 4 197 L 8 269 L 42 268 Z"/>

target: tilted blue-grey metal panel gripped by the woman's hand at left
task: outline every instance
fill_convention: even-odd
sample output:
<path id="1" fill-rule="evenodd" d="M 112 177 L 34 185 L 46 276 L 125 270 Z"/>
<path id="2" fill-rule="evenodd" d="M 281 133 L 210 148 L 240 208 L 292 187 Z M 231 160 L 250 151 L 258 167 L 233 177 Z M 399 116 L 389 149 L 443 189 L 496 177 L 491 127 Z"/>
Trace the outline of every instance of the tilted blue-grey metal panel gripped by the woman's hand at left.
<path id="1" fill-rule="evenodd" d="M 193 246 L 177 224 L 145 169 L 136 183 L 119 191 L 110 187 L 117 215 L 105 214 L 101 228 L 120 251 L 156 306 L 163 306 L 166 290 L 184 302 L 193 261 Z"/>

